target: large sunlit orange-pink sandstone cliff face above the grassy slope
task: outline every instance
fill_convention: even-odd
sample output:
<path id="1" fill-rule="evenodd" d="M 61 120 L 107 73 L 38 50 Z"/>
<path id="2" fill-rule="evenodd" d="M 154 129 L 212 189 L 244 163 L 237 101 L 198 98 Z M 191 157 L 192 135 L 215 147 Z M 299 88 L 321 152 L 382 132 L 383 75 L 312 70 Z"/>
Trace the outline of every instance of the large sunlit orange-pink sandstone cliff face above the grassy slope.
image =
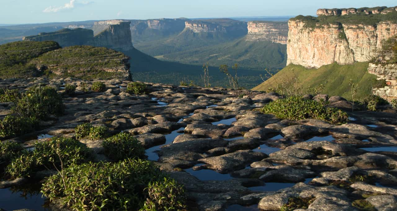
<path id="1" fill-rule="evenodd" d="M 397 17 L 397 11 L 394 8 L 382 11 L 392 11 L 393 14 L 368 16 L 365 23 L 349 15 L 332 21 L 301 15 L 290 19 L 287 65 L 319 68 L 333 62 L 352 64 L 369 61 L 378 54 L 385 39 L 397 35 L 397 23 L 387 20 L 391 15 Z"/>

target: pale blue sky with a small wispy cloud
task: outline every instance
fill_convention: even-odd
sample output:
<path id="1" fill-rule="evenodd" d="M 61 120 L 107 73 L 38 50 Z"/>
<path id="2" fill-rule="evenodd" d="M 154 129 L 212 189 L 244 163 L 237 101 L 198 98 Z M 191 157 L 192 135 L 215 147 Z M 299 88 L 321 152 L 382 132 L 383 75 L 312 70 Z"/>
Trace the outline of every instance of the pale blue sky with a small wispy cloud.
<path id="1" fill-rule="evenodd" d="M 0 24 L 104 19 L 315 15 L 318 8 L 397 6 L 396 0 L 0 0 Z"/>

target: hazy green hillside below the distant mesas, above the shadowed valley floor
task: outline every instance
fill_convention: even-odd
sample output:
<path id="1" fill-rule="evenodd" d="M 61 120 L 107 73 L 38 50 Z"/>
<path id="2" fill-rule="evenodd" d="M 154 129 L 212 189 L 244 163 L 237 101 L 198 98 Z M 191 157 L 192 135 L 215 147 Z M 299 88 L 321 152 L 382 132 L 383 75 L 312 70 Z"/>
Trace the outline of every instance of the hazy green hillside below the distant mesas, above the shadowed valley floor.
<path id="1" fill-rule="evenodd" d="M 161 60 L 175 61 L 184 64 L 211 65 L 238 63 L 243 68 L 254 70 L 281 69 L 287 62 L 287 46 L 270 41 L 237 41 L 214 46 L 189 49 L 181 52 L 158 56 Z"/>

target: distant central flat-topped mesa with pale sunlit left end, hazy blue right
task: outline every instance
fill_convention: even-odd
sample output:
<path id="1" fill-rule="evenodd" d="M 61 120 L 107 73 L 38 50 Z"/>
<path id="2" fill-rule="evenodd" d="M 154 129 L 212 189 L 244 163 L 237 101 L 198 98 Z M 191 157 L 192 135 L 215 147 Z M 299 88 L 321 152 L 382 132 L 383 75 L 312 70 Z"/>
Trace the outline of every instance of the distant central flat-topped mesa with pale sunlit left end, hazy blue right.
<path id="1" fill-rule="evenodd" d="M 247 23 L 233 19 L 208 19 L 185 21 L 185 29 L 194 33 L 237 33 L 247 34 Z"/>

